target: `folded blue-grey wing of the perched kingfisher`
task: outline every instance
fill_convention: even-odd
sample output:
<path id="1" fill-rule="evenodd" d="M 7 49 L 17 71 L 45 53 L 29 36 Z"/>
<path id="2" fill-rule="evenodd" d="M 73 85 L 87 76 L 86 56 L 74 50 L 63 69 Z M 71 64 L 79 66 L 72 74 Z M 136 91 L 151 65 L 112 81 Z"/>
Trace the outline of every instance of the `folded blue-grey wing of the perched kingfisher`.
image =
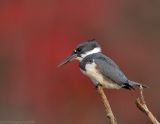
<path id="1" fill-rule="evenodd" d="M 94 58 L 97 65 L 97 69 L 103 74 L 104 77 L 109 78 L 115 83 L 122 85 L 127 82 L 126 76 L 120 70 L 118 65 L 112 61 L 109 57 L 104 55 L 97 56 Z"/>

